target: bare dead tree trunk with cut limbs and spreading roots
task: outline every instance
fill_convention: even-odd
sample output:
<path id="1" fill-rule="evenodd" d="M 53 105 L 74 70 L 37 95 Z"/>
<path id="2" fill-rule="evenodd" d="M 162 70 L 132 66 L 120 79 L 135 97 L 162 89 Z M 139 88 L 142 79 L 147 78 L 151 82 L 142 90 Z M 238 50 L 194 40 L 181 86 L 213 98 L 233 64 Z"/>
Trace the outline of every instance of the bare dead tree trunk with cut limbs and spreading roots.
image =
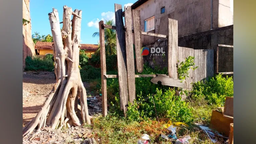
<path id="1" fill-rule="evenodd" d="M 71 20 L 71 16 L 73 19 Z M 49 126 L 51 129 L 63 126 L 91 124 L 86 90 L 79 71 L 79 46 L 82 11 L 63 7 L 63 27 L 60 30 L 58 11 L 48 14 L 54 41 L 56 83 L 36 117 L 23 128 L 23 137 L 34 129 Z M 78 97 L 81 102 L 81 116 L 78 111 Z M 81 118 L 82 119 L 79 119 Z"/>

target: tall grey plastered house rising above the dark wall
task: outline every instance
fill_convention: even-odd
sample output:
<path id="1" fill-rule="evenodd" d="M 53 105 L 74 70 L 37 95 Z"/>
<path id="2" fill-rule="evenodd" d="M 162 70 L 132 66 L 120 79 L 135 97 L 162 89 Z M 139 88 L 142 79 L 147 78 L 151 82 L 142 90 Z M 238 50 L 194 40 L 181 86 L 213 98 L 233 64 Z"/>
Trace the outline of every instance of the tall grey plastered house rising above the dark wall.
<path id="1" fill-rule="evenodd" d="M 203 32 L 233 24 L 233 0 L 138 0 L 141 29 L 168 35 L 168 18 L 178 21 L 178 36 Z M 159 38 L 142 35 L 143 45 Z"/>

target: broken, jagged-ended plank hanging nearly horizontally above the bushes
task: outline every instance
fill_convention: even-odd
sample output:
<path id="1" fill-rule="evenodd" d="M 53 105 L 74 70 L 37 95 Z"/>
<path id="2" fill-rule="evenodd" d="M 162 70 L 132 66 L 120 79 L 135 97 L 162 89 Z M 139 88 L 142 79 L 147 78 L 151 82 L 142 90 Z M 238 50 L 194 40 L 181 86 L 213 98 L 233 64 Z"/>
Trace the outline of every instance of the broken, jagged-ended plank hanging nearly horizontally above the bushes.
<path id="1" fill-rule="evenodd" d="M 154 77 L 150 80 L 150 82 L 157 84 L 157 82 L 161 82 L 164 86 L 171 86 L 171 87 L 179 87 L 179 88 L 187 88 L 186 84 L 181 83 L 180 80 L 175 80 L 173 78 L 170 78 L 167 75 L 157 75 L 157 77 Z"/>

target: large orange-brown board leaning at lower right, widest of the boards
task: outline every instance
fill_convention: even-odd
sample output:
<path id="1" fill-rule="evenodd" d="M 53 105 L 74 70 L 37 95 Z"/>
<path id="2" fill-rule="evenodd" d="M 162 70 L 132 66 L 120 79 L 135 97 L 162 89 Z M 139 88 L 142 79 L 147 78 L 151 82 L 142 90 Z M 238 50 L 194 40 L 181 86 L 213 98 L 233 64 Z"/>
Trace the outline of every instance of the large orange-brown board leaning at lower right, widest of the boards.
<path id="1" fill-rule="evenodd" d="M 233 123 L 232 119 L 225 118 L 221 112 L 216 110 L 212 111 L 212 117 L 210 122 L 210 128 L 217 130 L 219 133 L 223 133 L 225 136 L 229 136 L 230 124 Z"/>

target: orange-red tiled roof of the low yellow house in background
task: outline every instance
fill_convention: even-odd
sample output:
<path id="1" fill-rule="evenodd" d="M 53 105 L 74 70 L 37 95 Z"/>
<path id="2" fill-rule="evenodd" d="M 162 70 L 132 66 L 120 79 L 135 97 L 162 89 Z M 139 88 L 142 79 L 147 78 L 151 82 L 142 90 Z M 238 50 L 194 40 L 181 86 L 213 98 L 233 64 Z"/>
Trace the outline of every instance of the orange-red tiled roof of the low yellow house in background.
<path id="1" fill-rule="evenodd" d="M 37 41 L 35 44 L 35 49 L 52 49 L 52 44 L 53 42 Z M 91 50 L 91 51 L 96 51 L 98 49 L 98 44 L 80 44 L 80 45 L 81 45 L 80 49 Z"/>

